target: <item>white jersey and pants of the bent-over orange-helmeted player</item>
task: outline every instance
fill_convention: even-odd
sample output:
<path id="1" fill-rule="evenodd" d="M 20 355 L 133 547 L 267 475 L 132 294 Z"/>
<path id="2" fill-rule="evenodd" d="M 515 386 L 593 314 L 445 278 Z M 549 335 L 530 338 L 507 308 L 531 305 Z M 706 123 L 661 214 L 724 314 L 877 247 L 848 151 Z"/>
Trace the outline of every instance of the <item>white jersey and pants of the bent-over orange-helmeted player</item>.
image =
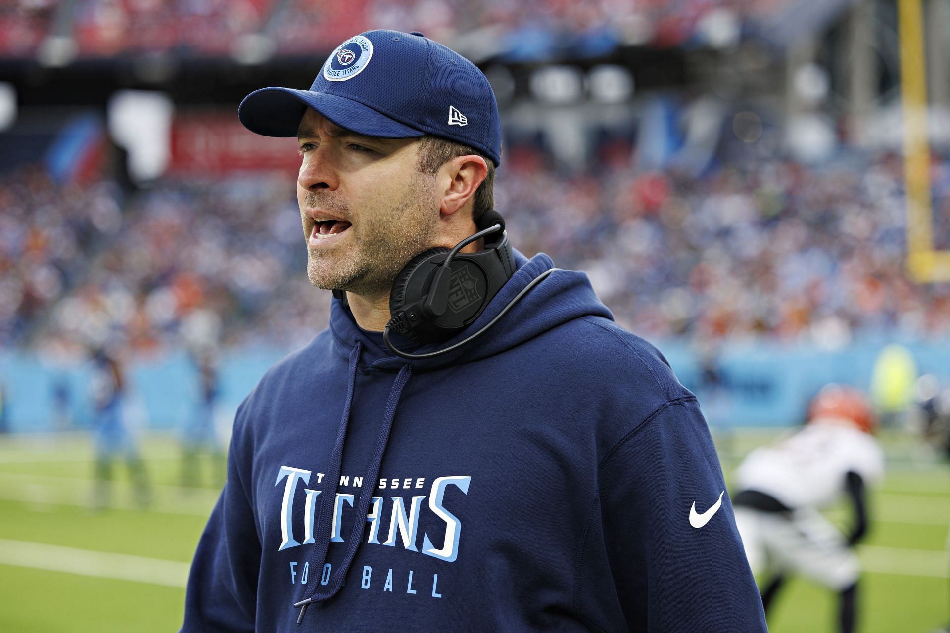
<path id="1" fill-rule="evenodd" d="M 865 484 L 883 476 L 877 440 L 848 424 L 811 423 L 746 457 L 734 474 L 738 490 L 769 494 L 791 510 L 736 506 L 735 522 L 753 572 L 797 572 L 835 589 L 857 581 L 857 556 L 818 512 L 845 493 L 848 472 L 861 475 Z"/>

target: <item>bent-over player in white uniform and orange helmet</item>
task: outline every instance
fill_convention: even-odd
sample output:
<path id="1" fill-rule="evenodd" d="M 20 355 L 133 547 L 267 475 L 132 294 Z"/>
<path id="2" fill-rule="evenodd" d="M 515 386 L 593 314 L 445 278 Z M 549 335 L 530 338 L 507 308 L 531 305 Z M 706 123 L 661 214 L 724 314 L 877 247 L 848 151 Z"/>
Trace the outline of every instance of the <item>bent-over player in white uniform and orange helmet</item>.
<path id="1" fill-rule="evenodd" d="M 853 387 L 826 385 L 808 407 L 807 426 L 755 449 L 736 470 L 735 520 L 752 570 L 771 574 L 768 612 L 788 573 L 838 593 L 838 627 L 855 630 L 861 566 L 852 548 L 867 533 L 865 487 L 883 475 L 874 418 Z M 854 512 L 845 536 L 819 510 L 846 496 Z"/>

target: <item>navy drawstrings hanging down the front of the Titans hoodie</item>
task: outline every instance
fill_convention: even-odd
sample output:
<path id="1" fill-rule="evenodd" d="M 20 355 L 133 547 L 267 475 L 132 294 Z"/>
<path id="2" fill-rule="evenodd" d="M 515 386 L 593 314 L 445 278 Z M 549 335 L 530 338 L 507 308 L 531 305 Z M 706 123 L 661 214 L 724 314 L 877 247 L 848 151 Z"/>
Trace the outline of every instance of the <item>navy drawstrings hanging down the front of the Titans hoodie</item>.
<path id="1" fill-rule="evenodd" d="M 319 574 L 317 576 L 318 578 L 322 577 L 323 566 L 327 562 L 327 549 L 330 546 L 331 517 L 333 515 L 333 506 L 336 502 L 336 488 L 339 486 L 340 470 L 343 465 L 343 446 L 346 443 L 347 427 L 350 424 L 350 409 L 356 384 L 356 368 L 359 365 L 362 348 L 363 344 L 357 342 L 353 346 L 350 354 L 350 385 L 347 393 L 347 403 L 343 408 L 343 421 L 340 423 L 340 430 L 336 435 L 336 444 L 333 446 L 333 456 L 330 459 L 330 465 L 327 469 L 327 478 L 325 479 L 327 482 L 326 488 L 324 489 L 325 493 L 320 502 L 320 511 L 316 527 L 314 528 L 314 552 L 310 558 L 310 568 L 316 570 Z M 336 569 L 336 573 L 334 573 L 330 579 L 329 586 L 327 586 L 325 590 L 317 591 L 320 587 L 320 583 L 317 581 L 314 585 L 314 593 L 312 593 L 309 598 L 295 603 L 294 606 L 300 607 L 297 624 L 303 622 L 303 616 L 307 612 L 308 605 L 333 598 L 340 590 L 340 587 L 343 586 L 343 581 L 346 578 L 347 572 L 350 570 L 350 565 L 352 564 L 353 557 L 356 555 L 356 550 L 359 549 L 363 541 L 363 531 L 366 530 L 366 521 L 361 521 L 360 517 L 366 517 L 367 511 L 370 509 L 372 491 L 375 488 L 376 479 L 379 476 L 379 467 L 383 461 L 383 456 L 386 454 L 386 447 L 390 442 L 390 429 L 392 428 L 392 420 L 396 417 L 396 407 L 399 405 L 399 400 L 403 395 L 403 389 L 406 387 L 411 376 L 412 368 L 409 364 L 405 364 L 396 375 L 396 380 L 392 383 L 390 398 L 386 403 L 386 413 L 383 417 L 383 423 L 379 429 L 376 443 L 373 446 L 370 470 L 367 471 L 366 476 L 364 476 L 363 487 L 360 489 L 359 503 L 356 506 L 355 513 L 356 520 L 353 523 L 347 553 L 343 557 L 342 562 Z M 314 564 L 317 563 L 318 565 L 314 567 Z"/>

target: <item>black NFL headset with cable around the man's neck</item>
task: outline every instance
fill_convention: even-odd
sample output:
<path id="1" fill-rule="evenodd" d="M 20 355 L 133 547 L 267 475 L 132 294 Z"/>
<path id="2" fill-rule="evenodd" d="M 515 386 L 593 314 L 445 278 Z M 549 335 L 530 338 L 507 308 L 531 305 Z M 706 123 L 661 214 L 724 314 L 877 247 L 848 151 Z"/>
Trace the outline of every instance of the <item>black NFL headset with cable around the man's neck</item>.
<path id="1" fill-rule="evenodd" d="M 409 354 L 399 349 L 390 342 L 391 332 L 399 332 L 415 343 L 441 343 L 452 338 L 482 315 L 515 274 L 515 255 L 502 215 L 495 210 L 486 211 L 476 227 L 478 233 L 469 235 L 451 250 L 438 247 L 419 253 L 396 275 L 390 291 L 392 318 L 383 330 L 383 341 L 393 354 L 406 359 L 425 359 L 461 347 L 494 326 L 525 294 L 557 270 L 542 272 L 491 322 L 464 341 L 425 354 Z M 459 252 L 483 237 L 483 250 Z M 333 290 L 333 295 L 345 301 L 346 293 L 342 290 Z"/>

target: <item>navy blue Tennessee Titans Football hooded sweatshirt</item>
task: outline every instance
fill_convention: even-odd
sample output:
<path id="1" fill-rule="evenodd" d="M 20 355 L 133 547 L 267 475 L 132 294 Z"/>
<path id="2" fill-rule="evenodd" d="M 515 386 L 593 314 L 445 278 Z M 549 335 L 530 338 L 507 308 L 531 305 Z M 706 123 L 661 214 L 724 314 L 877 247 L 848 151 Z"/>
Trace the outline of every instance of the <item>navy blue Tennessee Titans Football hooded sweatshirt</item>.
<path id="1" fill-rule="evenodd" d="M 552 268 L 518 265 L 456 340 Z M 725 490 L 693 394 L 581 272 L 423 361 L 334 299 L 237 411 L 181 630 L 766 631 Z"/>

